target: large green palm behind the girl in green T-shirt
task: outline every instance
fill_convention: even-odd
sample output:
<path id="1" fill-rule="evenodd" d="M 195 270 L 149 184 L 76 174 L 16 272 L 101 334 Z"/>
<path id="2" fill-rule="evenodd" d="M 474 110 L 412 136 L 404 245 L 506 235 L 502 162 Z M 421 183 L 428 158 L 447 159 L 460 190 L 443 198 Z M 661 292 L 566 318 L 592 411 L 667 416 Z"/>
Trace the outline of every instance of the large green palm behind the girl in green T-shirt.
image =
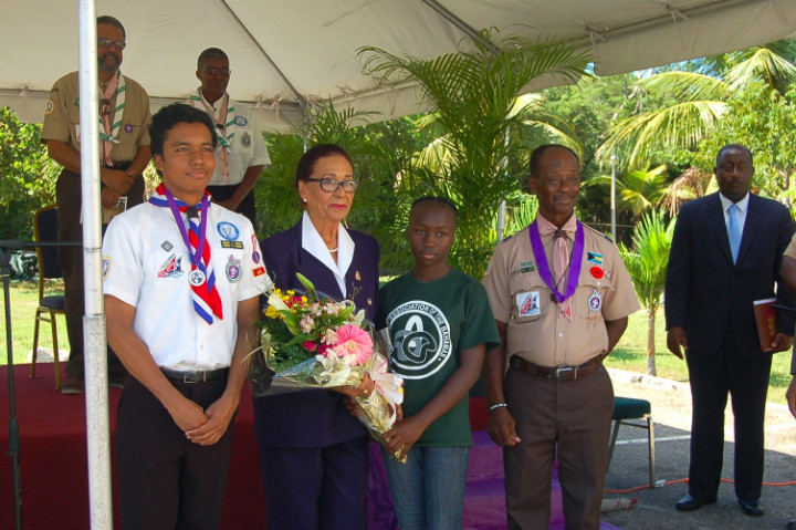
<path id="1" fill-rule="evenodd" d="M 480 278 L 495 243 L 493 220 L 498 207 L 520 187 L 517 159 L 526 117 L 534 102 L 519 100 L 541 75 L 576 80 L 588 56 L 573 43 L 532 42 L 510 37 L 492 39 L 482 31 L 463 43 L 469 51 L 425 60 L 367 46 L 359 50 L 365 67 L 384 83 L 407 79 L 418 83 L 420 96 L 433 107 L 437 127 L 433 160 L 401 168 L 398 202 L 420 194 L 441 194 L 460 207 L 457 245 L 451 262 Z M 433 169 L 432 169 L 433 168 Z"/>

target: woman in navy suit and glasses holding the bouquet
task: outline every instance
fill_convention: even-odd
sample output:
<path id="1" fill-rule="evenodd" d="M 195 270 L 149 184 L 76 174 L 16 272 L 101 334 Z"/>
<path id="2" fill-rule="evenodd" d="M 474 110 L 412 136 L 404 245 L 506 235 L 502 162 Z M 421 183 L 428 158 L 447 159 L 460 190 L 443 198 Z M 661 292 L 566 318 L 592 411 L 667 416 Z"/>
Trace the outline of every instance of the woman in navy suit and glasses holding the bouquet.
<path id="1" fill-rule="evenodd" d="M 298 162 L 296 187 L 302 220 L 261 242 L 269 274 L 280 289 L 303 289 L 301 272 L 373 320 L 379 247 L 342 225 L 357 187 L 350 157 L 336 145 L 312 147 Z M 367 386 L 345 392 L 363 395 Z M 270 530 L 366 528 L 368 436 L 343 397 L 318 389 L 254 398 Z"/>

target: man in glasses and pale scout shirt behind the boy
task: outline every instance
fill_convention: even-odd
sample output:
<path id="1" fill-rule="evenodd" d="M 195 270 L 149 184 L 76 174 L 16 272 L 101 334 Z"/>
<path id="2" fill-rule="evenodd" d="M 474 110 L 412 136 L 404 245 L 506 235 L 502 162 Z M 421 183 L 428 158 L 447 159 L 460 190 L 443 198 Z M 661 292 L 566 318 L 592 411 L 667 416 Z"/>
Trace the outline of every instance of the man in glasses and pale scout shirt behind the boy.
<path id="1" fill-rule="evenodd" d="M 216 173 L 207 188 L 213 202 L 243 214 L 256 230 L 254 185 L 271 158 L 250 108 L 227 93 L 232 74 L 223 50 L 208 48 L 201 52 L 196 71 L 201 86 L 187 103 L 207 112 L 216 124 Z"/>

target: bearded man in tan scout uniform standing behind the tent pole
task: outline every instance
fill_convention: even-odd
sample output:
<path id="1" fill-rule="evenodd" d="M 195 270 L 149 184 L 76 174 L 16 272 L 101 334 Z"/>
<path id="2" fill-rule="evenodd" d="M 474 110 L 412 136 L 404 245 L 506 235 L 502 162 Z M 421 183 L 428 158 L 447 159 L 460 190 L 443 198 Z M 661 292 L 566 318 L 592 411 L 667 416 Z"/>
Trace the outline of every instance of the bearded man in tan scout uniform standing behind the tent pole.
<path id="1" fill-rule="evenodd" d="M 97 77 L 102 139 L 101 172 L 102 204 L 112 208 L 117 204 L 127 208 L 144 201 L 142 173 L 149 164 L 149 96 L 132 79 L 122 75 L 122 51 L 126 46 L 122 23 L 113 17 L 97 18 Z M 80 85 L 77 72 L 55 82 L 44 114 L 42 142 L 50 158 L 63 166 L 55 194 L 59 209 L 59 241 L 82 242 L 81 225 L 81 124 Z M 121 201 L 119 201 L 121 199 Z M 107 221 L 105 221 L 107 222 Z M 66 332 L 70 358 L 66 378 L 61 385 L 64 394 L 83 392 L 83 249 L 59 249 L 66 297 Z M 124 384 L 125 370 L 108 349 L 108 382 Z"/>

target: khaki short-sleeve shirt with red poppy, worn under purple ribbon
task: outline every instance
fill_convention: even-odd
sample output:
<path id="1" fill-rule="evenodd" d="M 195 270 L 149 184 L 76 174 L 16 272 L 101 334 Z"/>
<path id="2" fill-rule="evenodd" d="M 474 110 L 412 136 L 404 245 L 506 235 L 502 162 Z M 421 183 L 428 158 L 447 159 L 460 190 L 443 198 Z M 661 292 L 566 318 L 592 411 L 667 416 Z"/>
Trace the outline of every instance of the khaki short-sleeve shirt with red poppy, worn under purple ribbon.
<path id="1" fill-rule="evenodd" d="M 495 249 L 483 284 L 495 320 L 507 323 L 506 361 L 520 355 L 540 366 L 585 363 L 608 350 L 606 320 L 622 319 L 640 309 L 616 245 L 585 225 L 584 230 L 572 322 L 559 315 L 558 303 L 551 300 L 553 291 L 538 273 L 527 227 Z M 574 233 L 567 236 L 572 252 Z M 553 240 L 553 235 L 542 236 L 551 267 Z"/>

